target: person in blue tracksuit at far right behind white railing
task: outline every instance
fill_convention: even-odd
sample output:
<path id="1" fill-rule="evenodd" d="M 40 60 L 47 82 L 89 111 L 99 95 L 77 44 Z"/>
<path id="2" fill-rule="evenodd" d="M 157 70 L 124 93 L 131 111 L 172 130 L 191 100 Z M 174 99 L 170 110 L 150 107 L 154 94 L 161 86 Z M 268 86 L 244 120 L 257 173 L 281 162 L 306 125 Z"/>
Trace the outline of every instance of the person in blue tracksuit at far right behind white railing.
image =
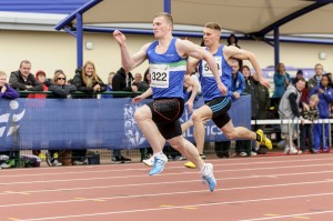
<path id="1" fill-rule="evenodd" d="M 329 119 L 330 118 L 330 103 L 333 102 L 333 89 L 331 88 L 331 79 L 326 74 L 321 76 L 320 86 L 312 89 L 309 97 L 312 94 L 319 96 L 319 114 L 320 119 Z M 321 147 L 323 148 L 323 152 L 329 152 L 329 124 L 324 124 L 324 131 L 321 123 L 315 123 L 313 125 L 313 137 L 314 137 L 314 149 L 315 151 L 321 151 Z M 324 139 L 323 139 L 324 138 Z"/>

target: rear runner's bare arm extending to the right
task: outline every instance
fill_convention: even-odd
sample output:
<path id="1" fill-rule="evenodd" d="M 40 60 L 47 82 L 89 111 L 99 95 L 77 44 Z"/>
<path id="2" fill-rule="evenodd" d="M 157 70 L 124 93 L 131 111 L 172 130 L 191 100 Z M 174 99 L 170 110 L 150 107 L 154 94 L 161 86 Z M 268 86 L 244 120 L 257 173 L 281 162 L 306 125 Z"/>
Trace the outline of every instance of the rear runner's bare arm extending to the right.
<path id="1" fill-rule="evenodd" d="M 225 54 L 226 60 L 230 59 L 249 60 L 252 67 L 254 68 L 255 72 L 258 73 L 260 83 L 266 88 L 270 88 L 270 83 L 266 79 L 262 77 L 262 71 L 260 69 L 259 62 L 252 52 L 239 49 L 234 46 L 229 46 L 229 47 L 224 47 L 223 53 Z"/>

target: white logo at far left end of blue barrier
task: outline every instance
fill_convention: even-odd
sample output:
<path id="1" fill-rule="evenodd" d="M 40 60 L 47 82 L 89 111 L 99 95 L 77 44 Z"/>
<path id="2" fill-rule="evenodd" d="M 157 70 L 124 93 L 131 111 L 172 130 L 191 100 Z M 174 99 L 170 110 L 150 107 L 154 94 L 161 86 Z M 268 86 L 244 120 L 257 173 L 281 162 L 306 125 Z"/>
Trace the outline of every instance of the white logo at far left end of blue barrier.
<path id="1" fill-rule="evenodd" d="M 9 103 L 9 107 L 10 109 L 13 111 L 13 110 L 17 110 L 19 108 L 19 102 L 13 100 L 13 101 L 10 101 Z M 4 113 L 4 114 L 1 114 L 0 115 L 0 124 L 1 123 L 8 123 L 10 122 L 10 127 L 7 128 L 7 125 L 4 127 L 0 127 L 0 138 L 4 135 L 6 131 L 6 137 L 9 137 L 11 135 L 13 132 L 16 132 L 20 125 L 18 124 L 18 122 L 20 120 L 22 120 L 22 118 L 24 117 L 24 113 L 26 113 L 26 109 L 22 110 L 22 112 L 18 113 L 18 114 L 11 114 L 11 113 Z"/>

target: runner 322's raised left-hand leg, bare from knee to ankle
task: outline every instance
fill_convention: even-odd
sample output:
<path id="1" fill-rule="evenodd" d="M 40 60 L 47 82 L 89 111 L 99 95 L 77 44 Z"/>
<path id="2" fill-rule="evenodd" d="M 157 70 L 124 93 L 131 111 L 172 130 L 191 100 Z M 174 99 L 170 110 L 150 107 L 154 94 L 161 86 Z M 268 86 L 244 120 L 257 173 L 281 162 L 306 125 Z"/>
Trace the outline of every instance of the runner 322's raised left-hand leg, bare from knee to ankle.
<path id="1" fill-rule="evenodd" d="M 161 135 L 157 124 L 152 120 L 152 113 L 148 106 L 142 106 L 134 112 L 134 119 L 150 143 L 154 153 L 162 152 L 165 140 Z"/>

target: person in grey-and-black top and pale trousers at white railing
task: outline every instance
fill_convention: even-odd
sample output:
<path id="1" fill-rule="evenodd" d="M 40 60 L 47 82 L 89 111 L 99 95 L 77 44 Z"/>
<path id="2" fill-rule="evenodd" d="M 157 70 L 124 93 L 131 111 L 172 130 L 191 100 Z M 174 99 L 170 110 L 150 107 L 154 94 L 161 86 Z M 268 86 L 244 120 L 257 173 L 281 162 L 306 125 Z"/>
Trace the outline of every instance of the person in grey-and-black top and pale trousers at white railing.
<path id="1" fill-rule="evenodd" d="M 281 98 L 279 104 L 279 115 L 281 120 L 293 120 L 293 119 L 301 119 L 302 124 L 304 123 L 303 118 L 299 111 L 299 107 L 301 106 L 301 96 L 302 90 L 305 88 L 305 79 L 297 79 L 295 86 L 290 84 L 284 92 L 283 97 Z M 281 132 L 286 134 L 285 135 L 285 149 L 284 153 L 286 154 L 300 154 L 302 153 L 301 150 L 297 150 L 294 144 L 293 140 L 290 139 L 290 135 L 294 133 L 294 123 L 287 123 L 281 125 Z"/>

